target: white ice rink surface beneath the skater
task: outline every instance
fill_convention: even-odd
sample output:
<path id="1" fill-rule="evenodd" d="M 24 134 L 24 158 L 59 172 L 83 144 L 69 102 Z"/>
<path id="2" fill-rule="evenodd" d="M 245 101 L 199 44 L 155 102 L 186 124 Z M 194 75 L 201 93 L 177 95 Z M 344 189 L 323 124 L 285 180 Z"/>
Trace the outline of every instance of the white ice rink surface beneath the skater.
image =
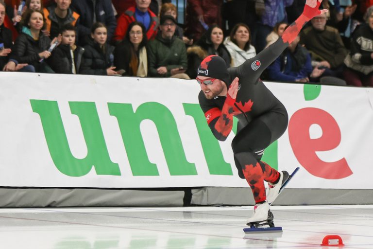
<path id="1" fill-rule="evenodd" d="M 0 209 L 0 248 L 333 249 L 320 244 L 337 234 L 343 249 L 373 249 L 373 205 L 271 210 L 282 233 L 245 234 L 252 206 Z"/>

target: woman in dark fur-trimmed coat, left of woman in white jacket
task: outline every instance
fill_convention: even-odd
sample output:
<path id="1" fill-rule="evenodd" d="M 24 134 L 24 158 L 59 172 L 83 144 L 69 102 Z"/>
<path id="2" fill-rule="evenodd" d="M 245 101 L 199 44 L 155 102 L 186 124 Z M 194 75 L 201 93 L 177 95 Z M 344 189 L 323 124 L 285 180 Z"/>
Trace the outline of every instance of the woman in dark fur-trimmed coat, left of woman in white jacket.
<path id="1" fill-rule="evenodd" d="M 231 66 L 231 55 L 223 44 L 223 38 L 222 29 L 218 25 L 213 25 L 203 34 L 195 46 L 187 49 L 188 70 L 186 74 L 188 74 L 191 79 L 197 77 L 198 66 L 207 55 L 219 55 L 224 59 L 227 68 Z"/>

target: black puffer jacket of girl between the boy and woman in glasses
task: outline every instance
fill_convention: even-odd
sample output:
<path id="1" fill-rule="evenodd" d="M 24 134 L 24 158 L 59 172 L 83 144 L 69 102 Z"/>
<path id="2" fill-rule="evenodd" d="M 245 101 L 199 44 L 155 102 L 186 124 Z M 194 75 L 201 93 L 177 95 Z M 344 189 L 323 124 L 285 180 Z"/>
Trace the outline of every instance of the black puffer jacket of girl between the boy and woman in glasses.
<path id="1" fill-rule="evenodd" d="M 114 47 L 105 44 L 104 49 L 93 40 L 88 42 L 84 47 L 83 60 L 79 73 L 81 74 L 95 74 L 107 75 L 106 69 L 113 66 L 114 63 Z M 105 53 L 103 52 L 105 51 Z"/>

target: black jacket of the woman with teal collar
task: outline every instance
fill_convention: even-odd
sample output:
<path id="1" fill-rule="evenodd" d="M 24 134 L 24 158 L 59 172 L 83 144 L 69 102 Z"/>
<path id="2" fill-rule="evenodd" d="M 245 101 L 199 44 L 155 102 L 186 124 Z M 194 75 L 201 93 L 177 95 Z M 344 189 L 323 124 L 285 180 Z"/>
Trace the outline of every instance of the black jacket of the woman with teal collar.
<path id="1" fill-rule="evenodd" d="M 44 36 L 40 32 L 38 40 L 25 33 L 21 33 L 14 44 L 13 52 L 14 56 L 11 55 L 11 58 L 15 58 L 18 63 L 27 63 L 34 66 L 35 71 L 40 69 L 40 56 L 39 53 L 46 51 L 51 46 L 51 39 L 48 36 Z M 12 53 L 13 53 L 12 52 Z"/>

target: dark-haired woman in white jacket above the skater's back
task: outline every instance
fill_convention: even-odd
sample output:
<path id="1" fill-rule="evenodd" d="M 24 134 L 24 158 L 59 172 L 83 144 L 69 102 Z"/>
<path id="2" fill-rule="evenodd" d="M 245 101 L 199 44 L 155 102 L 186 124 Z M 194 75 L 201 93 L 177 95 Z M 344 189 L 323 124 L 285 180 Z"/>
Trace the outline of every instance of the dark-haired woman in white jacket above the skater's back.
<path id="1" fill-rule="evenodd" d="M 232 66 L 238 67 L 247 59 L 256 55 L 255 48 L 251 45 L 250 28 L 243 23 L 237 23 L 228 36 L 224 45 L 232 57 Z"/>

